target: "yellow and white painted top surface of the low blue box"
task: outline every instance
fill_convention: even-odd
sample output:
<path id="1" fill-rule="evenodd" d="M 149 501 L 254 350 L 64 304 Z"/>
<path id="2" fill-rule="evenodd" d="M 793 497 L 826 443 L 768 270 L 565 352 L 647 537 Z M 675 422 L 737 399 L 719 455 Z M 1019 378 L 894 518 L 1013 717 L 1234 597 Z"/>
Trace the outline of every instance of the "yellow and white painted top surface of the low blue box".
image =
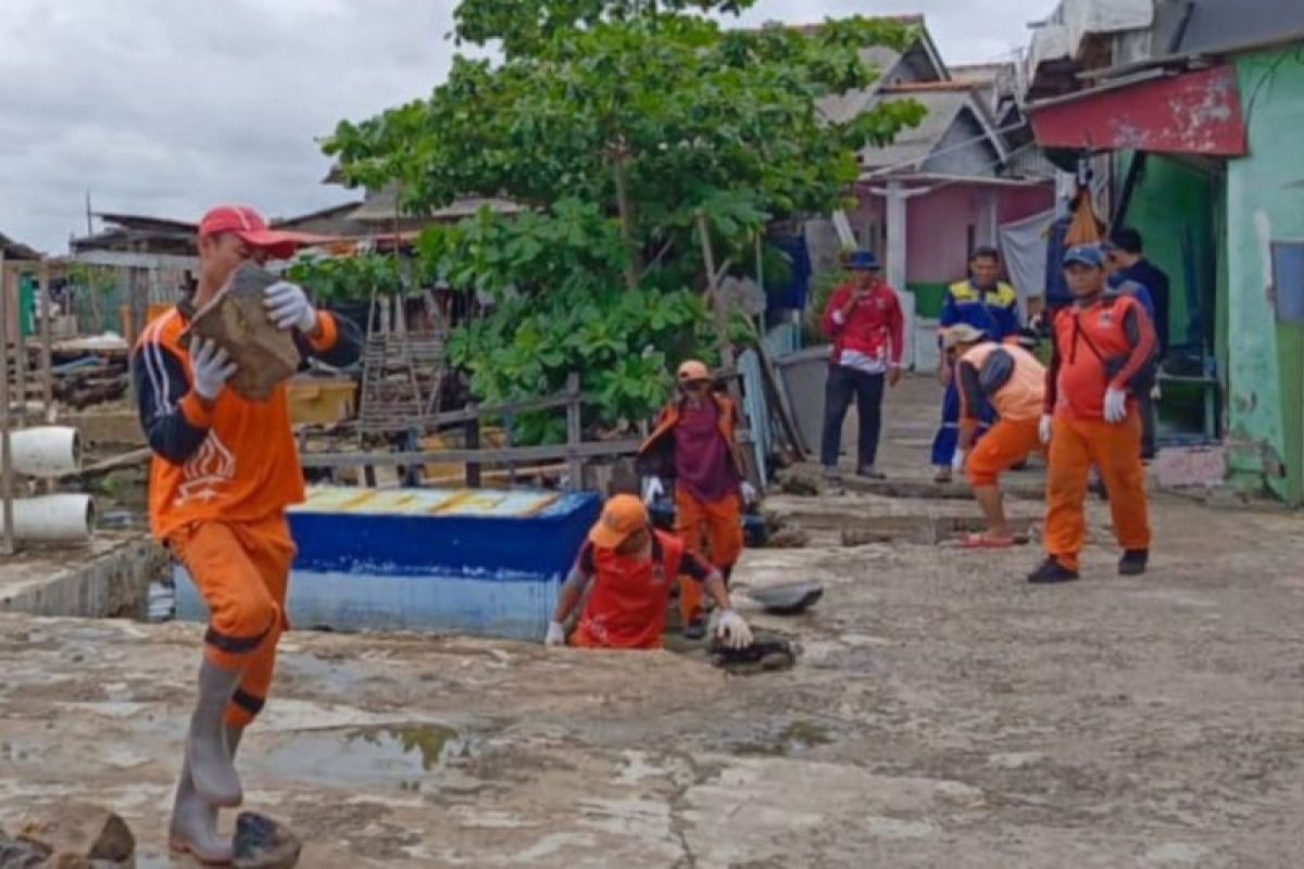
<path id="1" fill-rule="evenodd" d="M 313 486 L 308 490 L 308 500 L 292 507 L 291 511 L 365 516 L 529 519 L 562 506 L 565 498 L 552 491 Z"/>

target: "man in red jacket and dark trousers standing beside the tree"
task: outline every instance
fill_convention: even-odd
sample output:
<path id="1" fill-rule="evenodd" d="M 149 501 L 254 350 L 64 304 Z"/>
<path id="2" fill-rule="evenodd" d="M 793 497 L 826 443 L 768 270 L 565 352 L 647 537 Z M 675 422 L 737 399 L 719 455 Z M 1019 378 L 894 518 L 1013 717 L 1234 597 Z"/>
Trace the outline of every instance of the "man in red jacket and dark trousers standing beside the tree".
<path id="1" fill-rule="evenodd" d="M 855 473 L 883 479 L 875 466 L 883 429 L 883 383 L 895 387 L 901 380 L 905 318 L 896 291 L 879 276 L 879 261 L 872 253 L 857 250 L 846 267 L 853 278 L 835 291 L 823 318 L 833 353 L 824 386 L 820 464 L 825 477 L 837 477 L 842 421 L 854 399 L 861 422 Z"/>

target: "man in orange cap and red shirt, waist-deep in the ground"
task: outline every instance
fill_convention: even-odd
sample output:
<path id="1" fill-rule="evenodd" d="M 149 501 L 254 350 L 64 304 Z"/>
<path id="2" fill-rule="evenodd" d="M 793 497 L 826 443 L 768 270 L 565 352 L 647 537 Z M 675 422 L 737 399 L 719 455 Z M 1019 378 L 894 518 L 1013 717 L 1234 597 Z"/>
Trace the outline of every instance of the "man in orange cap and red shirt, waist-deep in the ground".
<path id="1" fill-rule="evenodd" d="M 679 575 L 716 601 L 716 637 L 732 649 L 751 645 L 751 629 L 733 611 L 724 577 L 672 534 L 655 530 L 636 495 L 615 495 L 588 534 L 562 585 L 548 625 L 549 646 L 566 642 L 562 627 L 583 601 L 570 644 L 585 649 L 660 649 L 672 582 Z"/>

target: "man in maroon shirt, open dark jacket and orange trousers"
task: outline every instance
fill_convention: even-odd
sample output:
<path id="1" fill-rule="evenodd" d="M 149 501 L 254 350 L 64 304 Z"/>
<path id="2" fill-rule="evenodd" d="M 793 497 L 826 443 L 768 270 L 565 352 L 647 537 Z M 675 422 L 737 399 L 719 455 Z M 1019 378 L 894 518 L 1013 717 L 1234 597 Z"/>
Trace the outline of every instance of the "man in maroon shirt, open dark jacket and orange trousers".
<path id="1" fill-rule="evenodd" d="M 674 481 L 674 530 L 690 552 L 704 555 L 729 581 L 742 555 L 742 511 L 756 498 L 734 431 L 738 408 L 711 390 L 696 360 L 679 366 L 678 395 L 639 448 L 639 473 Z M 702 585 L 679 578 L 679 618 L 689 638 L 705 636 Z"/>

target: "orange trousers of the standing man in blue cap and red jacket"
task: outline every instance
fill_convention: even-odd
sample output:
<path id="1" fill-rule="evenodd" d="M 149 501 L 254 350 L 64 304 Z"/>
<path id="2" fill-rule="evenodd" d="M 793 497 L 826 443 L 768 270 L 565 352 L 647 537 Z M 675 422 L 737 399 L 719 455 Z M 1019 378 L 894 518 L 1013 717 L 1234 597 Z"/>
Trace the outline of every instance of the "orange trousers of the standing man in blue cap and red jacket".
<path id="1" fill-rule="evenodd" d="M 1055 417 L 1046 472 L 1046 554 L 1071 571 L 1086 542 L 1086 487 L 1095 465 L 1110 494 L 1114 535 L 1124 550 L 1150 548 L 1141 465 L 1141 418 L 1120 423 Z"/>

